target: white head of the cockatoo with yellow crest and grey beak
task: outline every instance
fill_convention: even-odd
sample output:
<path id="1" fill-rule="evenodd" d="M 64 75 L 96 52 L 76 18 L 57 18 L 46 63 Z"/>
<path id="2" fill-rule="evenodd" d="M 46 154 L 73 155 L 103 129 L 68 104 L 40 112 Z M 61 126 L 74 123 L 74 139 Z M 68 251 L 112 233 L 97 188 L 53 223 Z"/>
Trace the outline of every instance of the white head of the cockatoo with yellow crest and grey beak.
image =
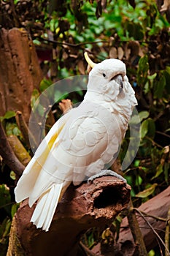
<path id="1" fill-rule="evenodd" d="M 85 53 L 85 59 L 92 68 L 89 73 L 88 90 L 98 91 L 104 94 L 107 101 L 112 101 L 115 97 L 121 98 L 125 94 L 134 90 L 128 83 L 126 68 L 123 61 L 119 59 L 106 59 L 96 64 L 90 60 L 88 53 Z"/>

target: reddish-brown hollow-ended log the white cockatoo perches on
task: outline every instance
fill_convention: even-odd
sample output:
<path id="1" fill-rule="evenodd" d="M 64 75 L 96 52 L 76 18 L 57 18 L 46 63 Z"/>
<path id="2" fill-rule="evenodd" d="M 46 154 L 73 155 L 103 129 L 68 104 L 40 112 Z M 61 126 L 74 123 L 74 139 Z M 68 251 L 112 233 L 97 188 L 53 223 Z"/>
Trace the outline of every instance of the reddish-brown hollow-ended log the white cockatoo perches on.
<path id="1" fill-rule="evenodd" d="M 9 255 L 79 255 L 80 237 L 90 227 L 104 228 L 128 206 L 130 186 L 112 176 L 70 186 L 58 204 L 49 232 L 30 223 L 34 207 L 21 203 L 12 222 Z"/>

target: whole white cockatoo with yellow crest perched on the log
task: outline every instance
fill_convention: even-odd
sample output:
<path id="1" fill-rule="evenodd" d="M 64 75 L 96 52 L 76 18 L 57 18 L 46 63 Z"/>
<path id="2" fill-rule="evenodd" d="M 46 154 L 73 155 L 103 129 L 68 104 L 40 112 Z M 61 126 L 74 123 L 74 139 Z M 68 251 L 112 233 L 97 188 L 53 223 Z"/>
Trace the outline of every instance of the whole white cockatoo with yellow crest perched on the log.
<path id="1" fill-rule="evenodd" d="M 108 174 L 123 179 L 104 167 L 112 162 L 125 136 L 137 105 L 134 90 L 122 61 L 94 64 L 87 53 L 85 59 L 92 69 L 82 103 L 53 125 L 15 188 L 18 203 L 28 198 L 31 207 L 37 201 L 31 222 L 46 231 L 71 182 L 78 185 L 85 178 Z"/>

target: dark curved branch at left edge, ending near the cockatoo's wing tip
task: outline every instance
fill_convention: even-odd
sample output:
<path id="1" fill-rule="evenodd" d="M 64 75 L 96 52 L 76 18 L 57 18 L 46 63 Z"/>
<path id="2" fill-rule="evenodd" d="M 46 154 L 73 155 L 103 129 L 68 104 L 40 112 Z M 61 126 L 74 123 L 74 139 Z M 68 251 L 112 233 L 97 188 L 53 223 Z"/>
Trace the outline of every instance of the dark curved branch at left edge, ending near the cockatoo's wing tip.
<path id="1" fill-rule="evenodd" d="M 4 162 L 13 170 L 18 176 L 21 176 L 25 166 L 18 160 L 12 151 L 11 146 L 7 140 L 7 136 L 4 132 L 4 128 L 0 122 L 0 155 L 4 159 Z"/>

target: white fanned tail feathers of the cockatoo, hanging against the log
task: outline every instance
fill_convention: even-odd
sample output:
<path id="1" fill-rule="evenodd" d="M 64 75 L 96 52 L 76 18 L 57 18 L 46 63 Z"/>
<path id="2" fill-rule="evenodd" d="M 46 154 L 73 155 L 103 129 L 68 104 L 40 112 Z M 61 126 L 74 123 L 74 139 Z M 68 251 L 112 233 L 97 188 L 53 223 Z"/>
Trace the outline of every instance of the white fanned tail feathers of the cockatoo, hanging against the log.
<path id="1" fill-rule="evenodd" d="M 31 222 L 36 227 L 42 227 L 43 230 L 48 231 L 55 213 L 55 208 L 58 205 L 62 188 L 63 184 L 54 184 L 53 187 L 39 197 L 34 214 L 31 217 Z"/>

